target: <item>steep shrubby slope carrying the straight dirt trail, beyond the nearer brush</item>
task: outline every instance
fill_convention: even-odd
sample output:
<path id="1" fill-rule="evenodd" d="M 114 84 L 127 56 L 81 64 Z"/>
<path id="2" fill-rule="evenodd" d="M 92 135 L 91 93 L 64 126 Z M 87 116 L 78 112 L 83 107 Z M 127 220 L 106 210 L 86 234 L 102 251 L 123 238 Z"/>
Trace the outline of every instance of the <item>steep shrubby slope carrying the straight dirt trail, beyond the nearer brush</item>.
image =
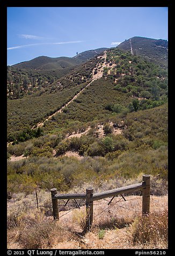
<path id="1" fill-rule="evenodd" d="M 106 59 L 104 56 L 96 57 L 93 61 L 75 68 L 69 75 L 48 84 L 38 93 L 8 101 L 8 135 L 12 129 L 21 131 L 24 126 L 32 127 L 52 115 L 92 80 L 94 81 L 91 86 L 78 96 L 78 102 L 76 99 L 71 103 L 70 109 L 75 106 L 79 112 L 75 116 L 74 111 L 71 119 L 88 122 L 98 115 L 100 119 L 101 116 L 110 117 L 112 113 L 152 108 L 166 102 L 166 70 L 142 60 L 139 56 L 123 53 L 118 48 L 108 50 Z M 100 84 L 104 86 L 101 87 Z M 134 98 L 138 99 L 135 107 L 132 106 Z M 65 115 L 65 111 L 66 109 L 62 115 Z M 70 111 L 67 111 L 66 116 L 70 116 Z M 58 125 L 57 122 L 52 124 Z"/>

